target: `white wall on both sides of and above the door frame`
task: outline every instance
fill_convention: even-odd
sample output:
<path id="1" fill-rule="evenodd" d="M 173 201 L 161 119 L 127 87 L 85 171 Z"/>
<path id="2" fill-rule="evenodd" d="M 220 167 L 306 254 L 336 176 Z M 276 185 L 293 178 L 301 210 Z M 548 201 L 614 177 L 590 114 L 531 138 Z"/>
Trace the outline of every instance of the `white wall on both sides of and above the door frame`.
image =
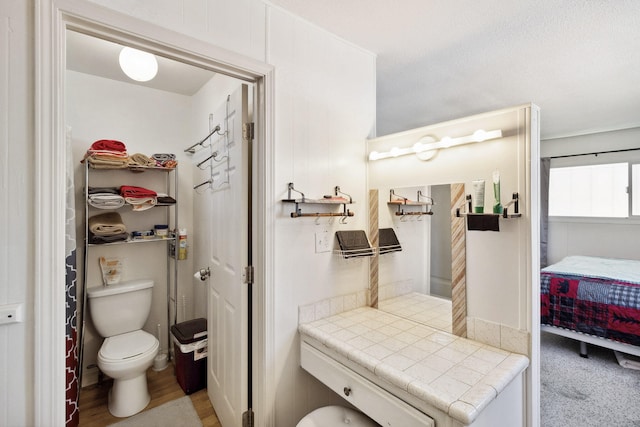
<path id="1" fill-rule="evenodd" d="M 92 3 L 276 66 L 275 180 L 282 194 L 272 205 L 278 212 L 274 311 L 277 332 L 274 360 L 267 363 L 274 365 L 276 371 L 275 425 L 293 426 L 305 412 L 332 398 L 299 368 L 297 306 L 367 286 L 366 267 L 315 254 L 313 237 L 317 229 L 366 228 L 364 140 L 372 135 L 375 121 L 375 58 L 260 0 Z M 0 261 L 5 274 L 0 282 L 0 303 L 26 305 L 25 323 L 0 327 L 3 425 L 33 425 L 35 410 L 32 307 L 37 295 L 30 268 L 35 254 L 33 242 L 37 239 L 32 231 L 34 201 L 30 197 L 35 191 L 35 118 L 31 113 L 35 110 L 31 80 L 35 75 L 35 4 L 36 0 L 0 3 L 0 123 L 5 154 L 5 208 L 0 215 L 3 224 L 11 224 L 5 230 L 10 243 L 3 247 L 5 256 Z M 167 151 L 171 148 L 164 147 Z M 187 178 L 181 180 L 186 181 Z M 323 195 L 340 185 L 356 200 L 356 216 L 347 226 L 315 225 L 306 219 L 289 218 L 289 211 L 279 199 L 291 181 L 309 196 Z"/>

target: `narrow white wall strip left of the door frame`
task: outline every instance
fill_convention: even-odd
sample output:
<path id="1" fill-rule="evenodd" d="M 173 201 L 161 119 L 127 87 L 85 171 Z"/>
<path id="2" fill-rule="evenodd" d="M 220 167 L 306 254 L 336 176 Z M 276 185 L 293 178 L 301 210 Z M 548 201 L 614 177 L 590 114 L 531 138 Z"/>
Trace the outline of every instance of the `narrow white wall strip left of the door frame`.
<path id="1" fill-rule="evenodd" d="M 33 5 L 0 2 L 0 305 L 24 321 L 0 326 L 0 425 L 31 424 L 33 373 Z M 64 286 L 64 284 L 63 284 Z M 60 372 L 60 375 L 63 375 Z"/>

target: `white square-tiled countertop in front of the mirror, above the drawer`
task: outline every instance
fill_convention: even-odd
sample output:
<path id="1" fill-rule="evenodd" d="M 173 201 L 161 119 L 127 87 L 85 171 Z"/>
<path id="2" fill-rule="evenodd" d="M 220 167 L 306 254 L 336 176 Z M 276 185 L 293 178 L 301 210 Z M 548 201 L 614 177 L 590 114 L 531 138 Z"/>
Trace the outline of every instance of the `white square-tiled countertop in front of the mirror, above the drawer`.
<path id="1" fill-rule="evenodd" d="M 298 330 L 463 424 L 529 366 L 521 354 L 371 307 L 302 323 Z"/>

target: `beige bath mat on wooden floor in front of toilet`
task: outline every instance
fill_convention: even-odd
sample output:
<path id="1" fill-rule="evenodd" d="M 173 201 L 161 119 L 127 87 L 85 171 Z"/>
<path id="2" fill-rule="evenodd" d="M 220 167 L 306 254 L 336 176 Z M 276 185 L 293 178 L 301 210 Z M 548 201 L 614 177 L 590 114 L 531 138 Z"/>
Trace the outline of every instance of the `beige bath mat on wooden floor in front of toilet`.
<path id="1" fill-rule="evenodd" d="M 202 426 L 189 396 L 140 412 L 110 427 L 196 427 Z"/>

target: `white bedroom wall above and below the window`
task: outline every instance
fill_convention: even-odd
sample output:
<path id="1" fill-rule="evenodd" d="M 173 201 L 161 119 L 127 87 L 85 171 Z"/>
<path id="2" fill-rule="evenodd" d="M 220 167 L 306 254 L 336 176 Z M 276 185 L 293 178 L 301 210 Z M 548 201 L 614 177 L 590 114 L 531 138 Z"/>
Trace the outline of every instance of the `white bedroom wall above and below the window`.
<path id="1" fill-rule="evenodd" d="M 594 153 L 640 147 L 640 128 L 601 132 L 541 142 L 541 157 Z M 640 163 L 640 151 L 552 159 L 551 166 L 609 162 Z M 550 218 L 548 262 L 568 255 L 640 259 L 640 219 Z"/>

